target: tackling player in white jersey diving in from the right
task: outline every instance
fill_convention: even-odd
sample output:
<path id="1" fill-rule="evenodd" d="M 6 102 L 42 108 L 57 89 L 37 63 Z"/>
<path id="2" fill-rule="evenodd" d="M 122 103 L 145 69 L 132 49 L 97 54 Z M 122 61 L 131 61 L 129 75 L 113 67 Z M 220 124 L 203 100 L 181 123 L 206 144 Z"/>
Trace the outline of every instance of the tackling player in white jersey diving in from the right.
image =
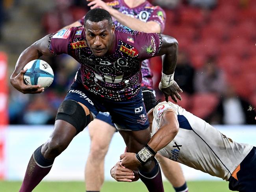
<path id="1" fill-rule="evenodd" d="M 226 137 L 182 107 L 161 102 L 148 112 L 152 138 L 138 153 L 124 153 L 111 170 L 116 180 L 134 179 L 132 170 L 158 151 L 164 157 L 229 181 L 230 190 L 254 192 L 256 148 Z M 125 166 L 125 167 L 123 167 Z M 140 172 L 139 172 L 140 173 Z M 124 176 L 126 175 L 126 176 Z"/>

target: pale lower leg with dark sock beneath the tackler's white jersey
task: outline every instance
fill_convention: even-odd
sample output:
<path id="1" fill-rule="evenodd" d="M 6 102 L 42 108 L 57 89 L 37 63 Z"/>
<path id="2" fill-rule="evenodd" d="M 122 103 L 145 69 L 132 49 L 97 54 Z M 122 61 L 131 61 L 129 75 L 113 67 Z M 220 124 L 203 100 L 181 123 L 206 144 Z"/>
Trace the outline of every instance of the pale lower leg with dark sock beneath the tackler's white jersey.
<path id="1" fill-rule="evenodd" d="M 173 185 L 176 192 L 188 192 L 186 180 L 184 178 L 182 169 L 178 162 L 172 161 L 160 154 L 156 154 L 163 174 L 168 181 Z"/>

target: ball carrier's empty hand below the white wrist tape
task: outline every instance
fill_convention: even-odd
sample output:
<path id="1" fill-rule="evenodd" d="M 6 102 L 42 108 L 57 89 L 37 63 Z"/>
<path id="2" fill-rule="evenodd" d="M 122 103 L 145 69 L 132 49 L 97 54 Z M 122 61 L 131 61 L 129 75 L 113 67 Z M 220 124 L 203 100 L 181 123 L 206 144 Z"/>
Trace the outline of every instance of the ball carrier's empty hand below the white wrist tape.
<path id="1" fill-rule="evenodd" d="M 161 86 L 161 82 L 159 83 L 159 89 L 161 90 L 161 92 L 163 92 L 163 94 L 165 95 L 165 101 L 168 102 L 169 101 L 169 96 L 171 96 L 171 98 L 173 99 L 173 101 L 175 103 L 178 102 L 177 98 L 179 100 L 182 100 L 180 93 L 182 93 L 182 89 L 180 89 L 180 87 L 178 86 L 178 84 L 176 83 L 176 81 L 173 81 L 173 83 L 166 88 L 162 88 Z M 176 96 L 176 97 L 175 97 Z"/>

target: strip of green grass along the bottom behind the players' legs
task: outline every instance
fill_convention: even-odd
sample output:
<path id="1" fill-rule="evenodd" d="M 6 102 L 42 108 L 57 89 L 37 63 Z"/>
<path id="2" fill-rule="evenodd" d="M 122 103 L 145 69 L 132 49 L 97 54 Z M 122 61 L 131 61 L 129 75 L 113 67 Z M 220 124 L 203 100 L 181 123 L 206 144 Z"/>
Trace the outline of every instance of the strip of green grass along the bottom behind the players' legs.
<path id="1" fill-rule="evenodd" d="M 0 181 L 0 192 L 18 192 L 21 182 Z M 231 192 L 228 182 L 191 181 L 188 182 L 189 192 Z M 174 192 L 173 187 L 165 182 L 165 192 Z M 83 182 L 42 182 L 33 192 L 85 192 Z M 119 183 L 105 182 L 101 192 L 147 192 L 142 182 Z"/>

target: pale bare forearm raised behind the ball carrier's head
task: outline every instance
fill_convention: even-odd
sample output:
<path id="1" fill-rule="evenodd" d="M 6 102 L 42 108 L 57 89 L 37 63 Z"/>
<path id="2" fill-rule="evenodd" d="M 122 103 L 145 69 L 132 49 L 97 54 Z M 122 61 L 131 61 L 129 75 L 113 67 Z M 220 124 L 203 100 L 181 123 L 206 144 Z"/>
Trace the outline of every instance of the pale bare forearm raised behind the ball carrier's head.
<path id="1" fill-rule="evenodd" d="M 88 1 L 90 1 L 88 6 L 91 6 L 91 9 L 94 9 L 94 8 L 105 9 L 106 11 L 108 11 L 110 13 L 110 15 L 112 17 L 115 17 L 115 19 L 119 23 L 121 23 L 123 26 L 127 26 L 136 31 L 143 31 L 145 33 L 160 33 L 161 32 L 160 24 L 158 24 L 155 21 L 143 22 L 137 18 L 130 17 L 130 16 L 125 15 L 124 13 L 121 13 L 120 11 L 108 6 L 102 0 L 88 0 Z"/>

